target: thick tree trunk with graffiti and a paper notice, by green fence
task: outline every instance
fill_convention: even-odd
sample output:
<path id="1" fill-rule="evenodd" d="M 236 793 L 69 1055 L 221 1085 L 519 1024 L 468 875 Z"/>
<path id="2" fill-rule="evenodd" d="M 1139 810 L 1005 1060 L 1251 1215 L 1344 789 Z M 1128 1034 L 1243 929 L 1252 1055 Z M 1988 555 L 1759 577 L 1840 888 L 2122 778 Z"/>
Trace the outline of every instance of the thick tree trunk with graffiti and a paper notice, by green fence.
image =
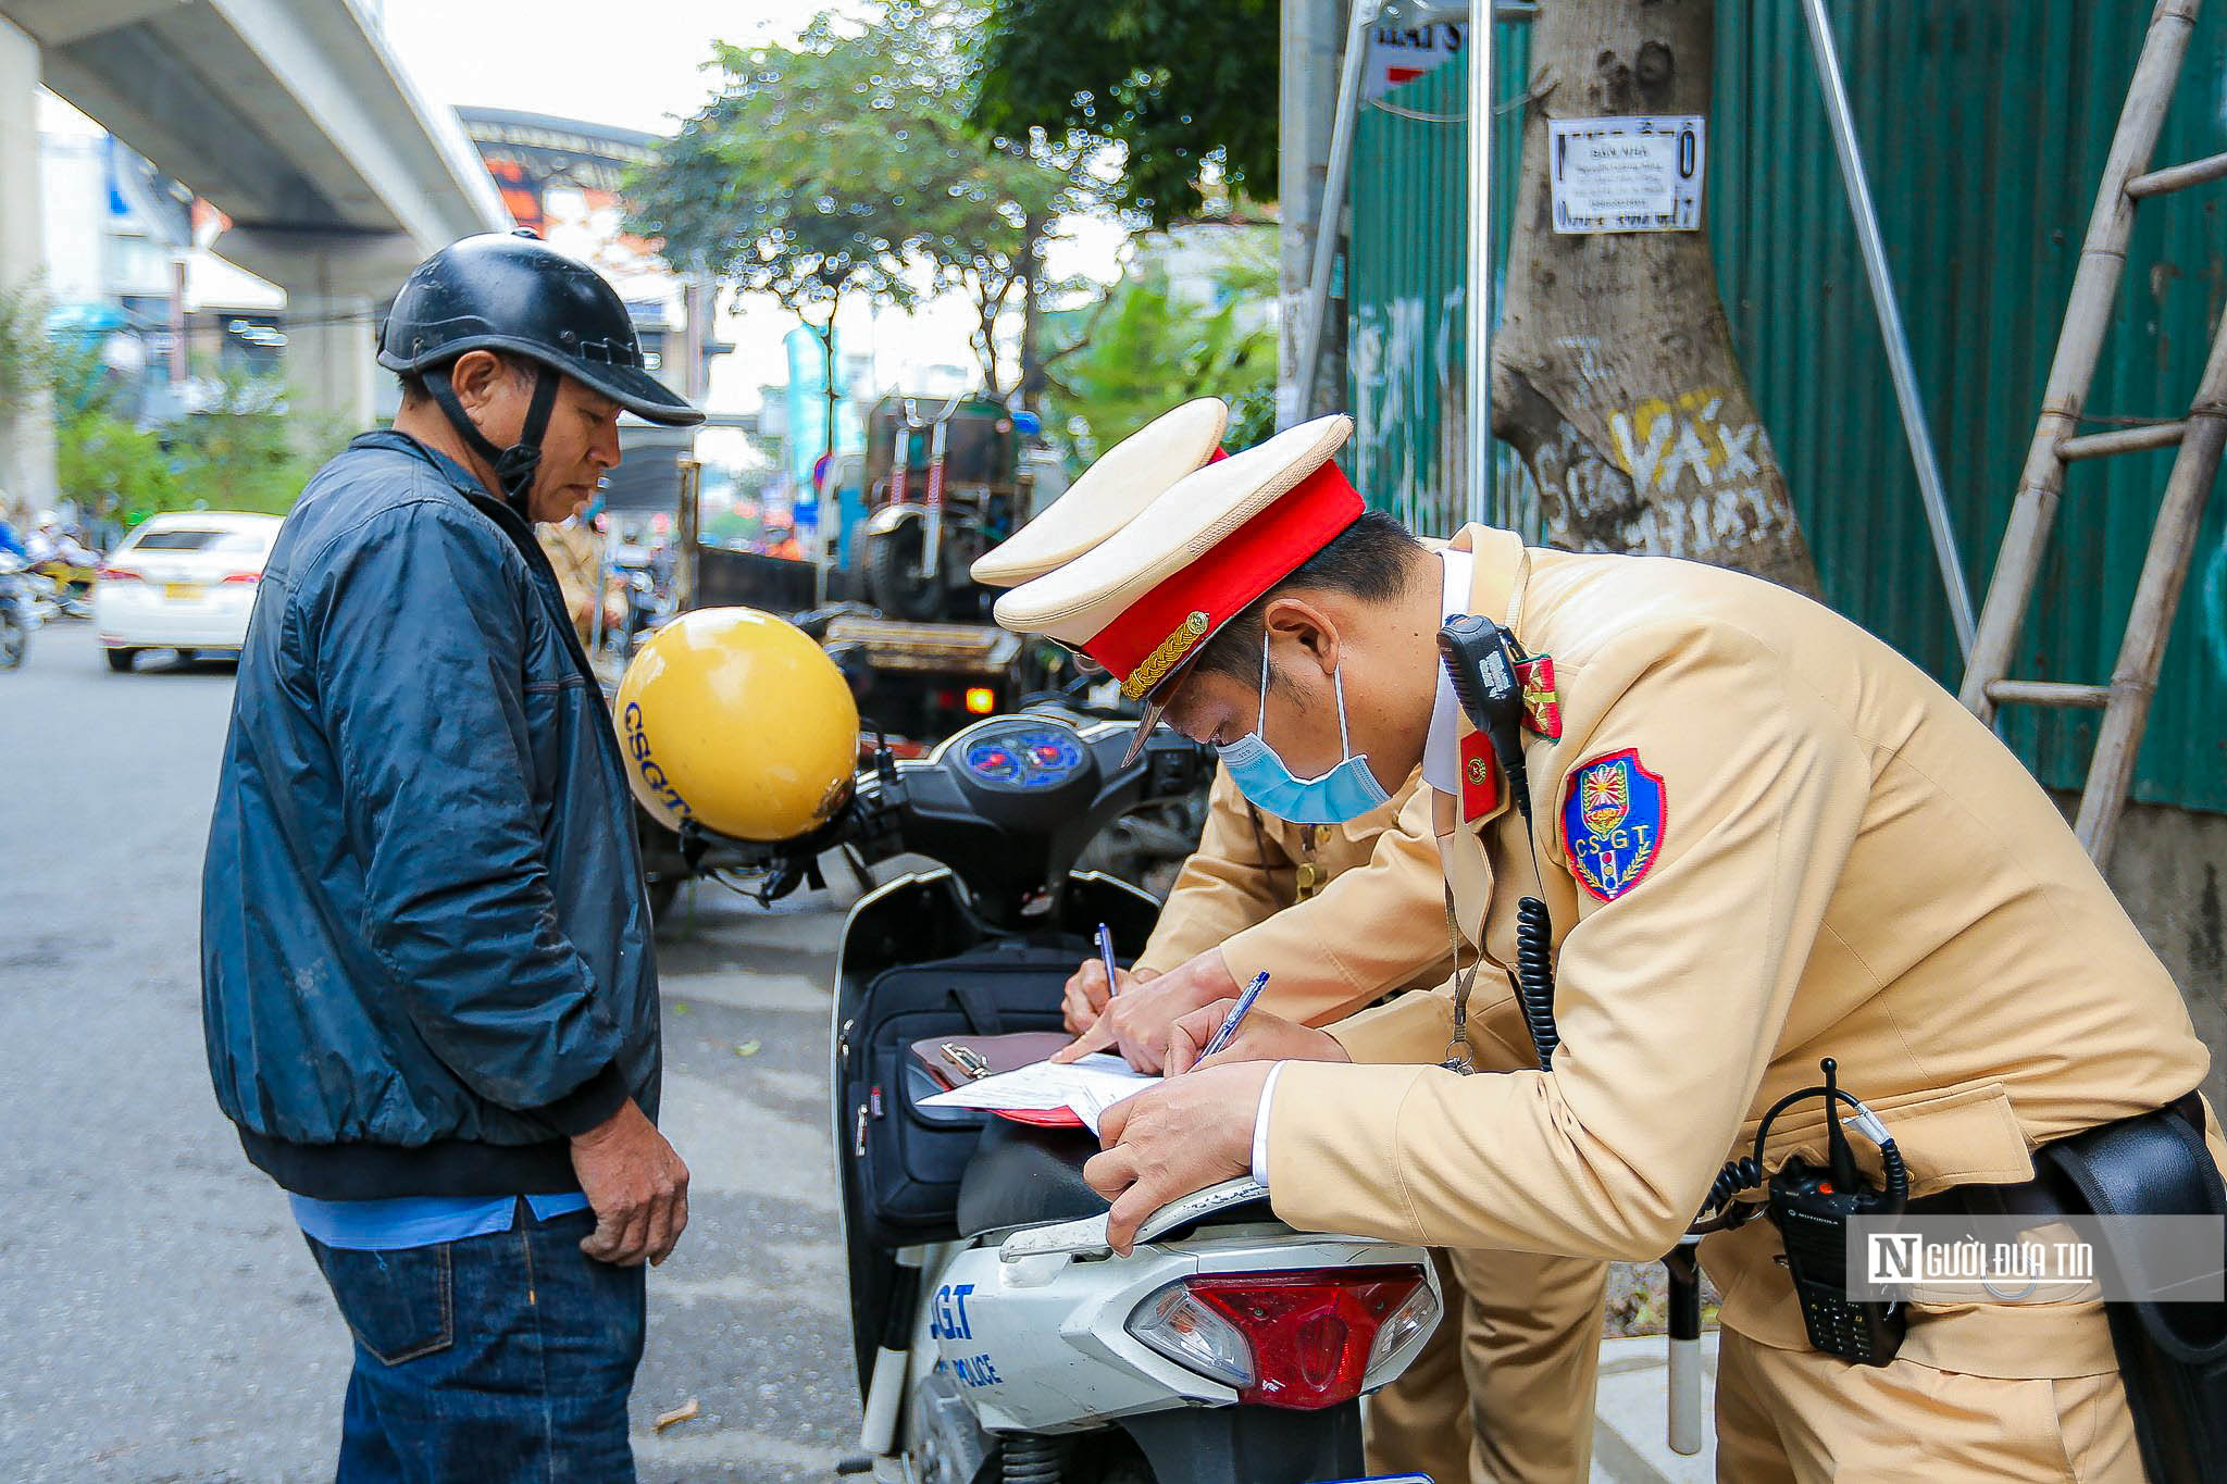
<path id="1" fill-rule="evenodd" d="M 1706 116 L 1715 20 L 1715 0 L 1539 7 L 1492 432 L 1530 465 L 1557 545 L 1688 556 L 1815 594 L 1708 234 L 1554 231 L 1548 118 Z M 1704 214 L 1717 189 L 1704 174 Z"/>

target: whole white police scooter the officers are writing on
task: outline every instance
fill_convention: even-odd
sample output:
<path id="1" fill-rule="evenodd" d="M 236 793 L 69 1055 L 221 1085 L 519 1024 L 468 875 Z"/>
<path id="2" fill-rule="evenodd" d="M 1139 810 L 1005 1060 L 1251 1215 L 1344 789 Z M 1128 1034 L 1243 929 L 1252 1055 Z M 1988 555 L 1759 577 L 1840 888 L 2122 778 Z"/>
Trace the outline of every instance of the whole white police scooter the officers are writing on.
<path id="1" fill-rule="evenodd" d="M 864 1402 L 846 1473 L 889 1484 L 1303 1484 L 1363 1473 L 1358 1397 L 1439 1319 L 1421 1248 L 1303 1235 L 1236 1179 L 1156 1213 L 1116 1257 L 1085 1130 L 929 1108 L 922 1037 L 1056 1030 L 1060 986 L 1158 903 L 1076 870 L 1109 823 L 1191 794 L 1209 754 L 1065 708 L 886 752 L 817 837 L 764 850 L 764 894 L 817 857 L 933 865 L 869 892 L 837 959 L 835 1164 Z M 684 839 L 684 848 L 688 841 Z M 699 841 L 702 845 L 702 841 Z M 726 841 L 733 848 L 733 841 Z"/>

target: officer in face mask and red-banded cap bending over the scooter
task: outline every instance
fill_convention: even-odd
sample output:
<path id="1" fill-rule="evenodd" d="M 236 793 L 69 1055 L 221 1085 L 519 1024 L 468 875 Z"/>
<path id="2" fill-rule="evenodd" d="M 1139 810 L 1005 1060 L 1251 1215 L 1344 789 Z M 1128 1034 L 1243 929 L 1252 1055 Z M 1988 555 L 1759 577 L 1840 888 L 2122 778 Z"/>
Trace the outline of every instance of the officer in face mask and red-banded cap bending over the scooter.
<path id="1" fill-rule="evenodd" d="M 1931 679 L 1715 567 L 1488 527 L 1434 558 L 1330 463 L 1350 427 L 1200 469 L 998 603 L 1223 745 L 1247 790 L 1370 799 L 1434 748 L 1459 756 L 1430 808 L 1450 917 L 1490 959 L 1474 992 L 1330 1032 L 1256 1012 L 1218 1066 L 1116 1106 L 1089 1168 L 1116 1246 L 1249 1170 L 1301 1228 L 1650 1259 L 1819 1057 L 1937 1206 L 2024 1188 L 2040 1146 L 2167 1106 L 2227 1157 L 2171 979 L 2049 797 Z M 1439 694 L 1448 561 L 1463 610 L 1539 656 L 1528 810 Z M 1530 1039 L 1494 990 L 1521 894 L 1548 908 L 1561 1050 L 1461 1075 Z M 1218 1017 L 1178 1023 L 1171 1070 Z M 1819 1159 L 1824 1126 L 1782 1117 L 1764 1164 Z M 1773 1221 L 1704 1239 L 1701 1262 L 1724 1293 L 1721 1477 L 2140 1477 L 2100 1304 L 1913 1304 L 1897 1357 L 1851 1366 L 1811 1348 Z"/>

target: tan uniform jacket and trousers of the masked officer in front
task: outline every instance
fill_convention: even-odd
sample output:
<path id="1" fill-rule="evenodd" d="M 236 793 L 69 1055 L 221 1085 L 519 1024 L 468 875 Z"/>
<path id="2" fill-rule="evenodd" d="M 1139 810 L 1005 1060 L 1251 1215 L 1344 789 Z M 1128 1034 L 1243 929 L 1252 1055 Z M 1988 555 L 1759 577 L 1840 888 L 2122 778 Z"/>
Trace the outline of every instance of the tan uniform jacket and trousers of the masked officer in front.
<path id="1" fill-rule="evenodd" d="M 1534 843 L 1563 1046 L 1548 1075 L 1289 1063 L 1267 1135 L 1287 1221 L 1644 1257 L 1819 1057 L 1884 1117 L 1913 1197 L 2031 1179 L 2040 1141 L 2203 1081 L 2178 990 L 2049 797 L 1884 643 L 1715 567 L 1485 527 L 1456 547 L 1477 554 L 1472 612 L 1552 654 L 1563 716 L 1559 741 L 1525 739 L 1534 841 L 1505 803 L 1465 821 L 1432 794 L 1490 959 L 1470 1039 L 1479 1019 L 1525 1039 L 1494 968 L 1514 963 Z M 1588 763 L 1619 754 L 1644 770 L 1626 797 L 1588 797 Z M 1603 859 L 1588 810 L 1632 819 L 1648 779 L 1655 839 Z M 1332 1035 L 1356 1061 L 1414 1063 L 1450 1030 L 1441 990 Z M 1822 1128 L 1797 1106 L 1766 1164 L 1822 1159 Z M 1701 1244 L 1724 1293 L 1721 1477 L 2140 1480 L 2098 1304 L 1917 1304 L 1893 1364 L 1848 1366 L 1811 1351 L 1779 1253 L 1768 1221 Z"/>

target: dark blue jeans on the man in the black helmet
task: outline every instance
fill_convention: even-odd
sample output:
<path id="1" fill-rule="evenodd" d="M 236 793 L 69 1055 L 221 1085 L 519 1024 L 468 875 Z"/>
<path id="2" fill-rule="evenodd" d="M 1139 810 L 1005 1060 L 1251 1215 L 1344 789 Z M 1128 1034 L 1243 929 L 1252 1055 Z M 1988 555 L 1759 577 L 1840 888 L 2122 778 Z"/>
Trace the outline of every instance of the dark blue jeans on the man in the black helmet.
<path id="1" fill-rule="evenodd" d="M 392 1253 L 305 1237 L 356 1337 L 339 1484 L 630 1482 L 644 1270 L 579 1250 L 586 1210 Z"/>

